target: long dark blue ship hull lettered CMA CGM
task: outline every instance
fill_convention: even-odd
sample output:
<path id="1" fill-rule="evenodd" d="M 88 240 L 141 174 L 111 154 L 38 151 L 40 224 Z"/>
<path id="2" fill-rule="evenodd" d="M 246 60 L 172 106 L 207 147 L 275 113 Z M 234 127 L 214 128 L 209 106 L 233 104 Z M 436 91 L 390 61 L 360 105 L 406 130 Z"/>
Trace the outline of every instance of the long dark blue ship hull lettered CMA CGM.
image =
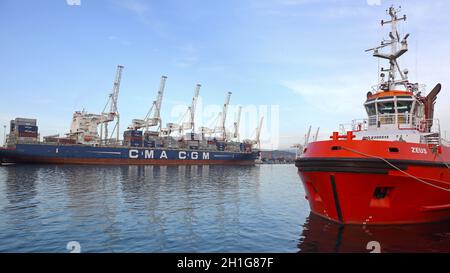
<path id="1" fill-rule="evenodd" d="M 2 163 L 91 165 L 253 165 L 256 152 L 140 147 L 17 144 L 0 149 Z"/>

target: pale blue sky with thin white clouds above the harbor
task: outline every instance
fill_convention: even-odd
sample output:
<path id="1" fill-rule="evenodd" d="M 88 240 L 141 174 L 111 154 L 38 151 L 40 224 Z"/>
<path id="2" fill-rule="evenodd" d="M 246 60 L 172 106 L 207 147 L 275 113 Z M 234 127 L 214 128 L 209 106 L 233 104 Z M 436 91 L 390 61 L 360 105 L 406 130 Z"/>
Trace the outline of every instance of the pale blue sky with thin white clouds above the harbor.
<path id="1" fill-rule="evenodd" d="M 279 137 L 275 146 L 302 142 L 309 125 L 326 137 L 339 123 L 365 117 L 378 61 L 364 50 L 386 36 L 379 22 L 391 4 L 408 15 L 400 30 L 411 33 L 410 52 L 401 64 L 428 89 L 443 84 L 436 117 L 448 130 L 444 0 L 2 0 L 0 124 L 34 117 L 41 135 L 65 133 L 73 111 L 103 109 L 122 64 L 122 128 L 145 116 L 167 75 L 165 122 L 201 83 L 203 105 L 220 105 L 232 91 L 233 105 L 278 106 L 262 135 Z M 244 123 L 249 136 L 256 118 Z"/>

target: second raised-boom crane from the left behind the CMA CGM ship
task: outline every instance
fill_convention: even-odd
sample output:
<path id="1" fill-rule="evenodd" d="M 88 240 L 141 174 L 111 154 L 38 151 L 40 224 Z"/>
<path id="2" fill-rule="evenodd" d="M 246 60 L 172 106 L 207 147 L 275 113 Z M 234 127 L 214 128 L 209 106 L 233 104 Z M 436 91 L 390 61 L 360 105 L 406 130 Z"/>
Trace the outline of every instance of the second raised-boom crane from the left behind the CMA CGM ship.
<path id="1" fill-rule="evenodd" d="M 156 100 L 153 101 L 150 110 L 144 119 L 133 119 L 132 124 L 128 127 L 131 130 L 139 130 L 145 128 L 148 131 L 149 127 L 159 126 L 158 129 L 161 130 L 161 104 L 164 95 L 164 89 L 166 86 L 166 76 L 161 77 L 161 82 L 159 84 L 158 95 Z"/>

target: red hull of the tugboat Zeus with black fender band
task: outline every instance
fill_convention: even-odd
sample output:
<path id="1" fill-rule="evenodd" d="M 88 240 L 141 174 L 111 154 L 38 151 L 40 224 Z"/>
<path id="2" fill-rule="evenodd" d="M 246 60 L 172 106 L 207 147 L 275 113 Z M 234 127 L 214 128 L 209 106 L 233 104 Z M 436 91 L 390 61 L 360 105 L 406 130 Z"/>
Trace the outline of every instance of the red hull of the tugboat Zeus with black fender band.
<path id="1" fill-rule="evenodd" d="M 422 144 L 330 140 L 309 144 L 296 166 L 311 211 L 329 220 L 437 222 L 450 219 L 448 155 Z"/>

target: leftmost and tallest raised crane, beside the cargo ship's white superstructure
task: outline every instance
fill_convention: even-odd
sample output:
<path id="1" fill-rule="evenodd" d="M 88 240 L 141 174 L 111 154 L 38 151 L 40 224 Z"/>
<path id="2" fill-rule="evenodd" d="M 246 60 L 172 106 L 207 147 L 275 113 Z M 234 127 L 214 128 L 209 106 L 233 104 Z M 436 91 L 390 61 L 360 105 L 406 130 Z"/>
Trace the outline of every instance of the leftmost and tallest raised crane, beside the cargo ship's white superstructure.
<path id="1" fill-rule="evenodd" d="M 105 108 L 102 111 L 101 119 L 100 119 L 100 142 L 103 142 L 103 127 L 105 127 L 105 142 L 108 142 L 108 123 L 114 121 L 116 118 L 116 124 L 114 125 L 113 131 L 111 132 L 111 136 L 109 137 L 112 139 L 112 135 L 114 132 L 116 132 L 116 142 L 119 141 L 119 123 L 120 123 L 120 117 L 119 117 L 119 110 L 117 107 L 117 101 L 119 98 L 119 91 L 120 91 L 120 81 L 122 79 L 122 70 L 124 66 L 118 65 L 116 70 L 116 78 L 114 80 L 113 90 L 111 94 L 109 95 L 108 101 L 106 102 Z M 109 106 L 109 112 L 105 112 L 106 109 Z"/>

